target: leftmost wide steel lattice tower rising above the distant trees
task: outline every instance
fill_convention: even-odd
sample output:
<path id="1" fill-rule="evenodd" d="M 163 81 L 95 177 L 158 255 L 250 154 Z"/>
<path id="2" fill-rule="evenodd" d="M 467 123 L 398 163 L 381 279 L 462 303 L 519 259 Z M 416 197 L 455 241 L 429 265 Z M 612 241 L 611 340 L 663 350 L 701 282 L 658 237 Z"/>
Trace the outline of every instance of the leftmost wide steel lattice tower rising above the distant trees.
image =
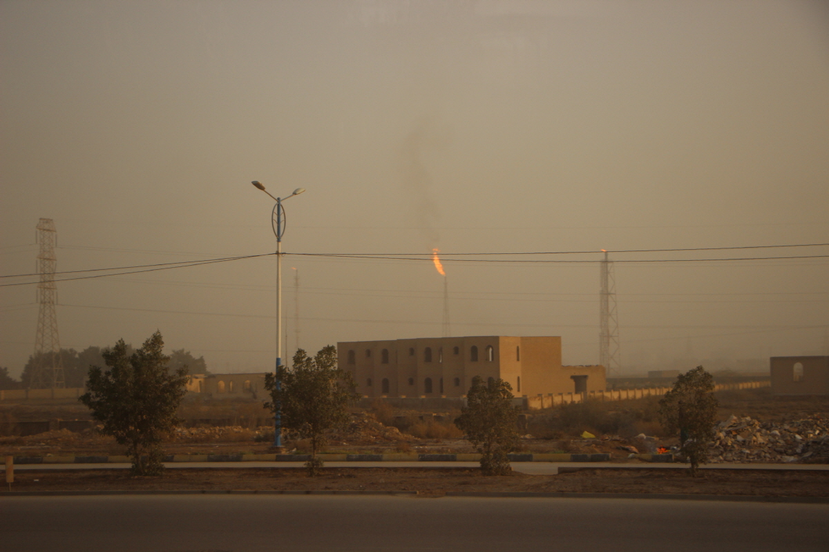
<path id="1" fill-rule="evenodd" d="M 32 389 L 54 389 L 65 387 L 63 360 L 61 359 L 61 339 L 57 333 L 57 286 L 55 286 L 55 245 L 57 230 L 51 218 L 41 218 L 37 223 L 37 271 L 41 281 L 37 284 L 37 301 L 40 310 L 37 314 L 37 334 L 35 336 L 34 366 Z"/>

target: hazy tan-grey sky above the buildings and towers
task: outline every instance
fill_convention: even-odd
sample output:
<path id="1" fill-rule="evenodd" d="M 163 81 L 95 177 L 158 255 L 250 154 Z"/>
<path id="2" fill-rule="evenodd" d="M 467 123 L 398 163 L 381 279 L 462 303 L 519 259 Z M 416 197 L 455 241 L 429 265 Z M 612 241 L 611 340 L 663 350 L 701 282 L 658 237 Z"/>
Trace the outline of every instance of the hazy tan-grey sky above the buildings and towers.
<path id="1" fill-rule="evenodd" d="M 827 2 L 0 2 L 0 262 L 596 252 L 445 262 L 454 335 L 598 362 L 599 250 L 829 242 Z M 829 247 L 612 253 L 623 367 L 820 354 Z M 439 336 L 429 262 L 288 255 L 293 350 Z M 68 275 L 67 275 L 68 276 Z M 77 275 L 75 275 L 77 276 Z M 58 285 L 61 345 L 274 362 L 275 257 Z M 2 284 L 31 281 L 3 278 Z M 0 365 L 35 286 L 0 287 Z M 826 353 L 824 353 L 826 354 Z"/>

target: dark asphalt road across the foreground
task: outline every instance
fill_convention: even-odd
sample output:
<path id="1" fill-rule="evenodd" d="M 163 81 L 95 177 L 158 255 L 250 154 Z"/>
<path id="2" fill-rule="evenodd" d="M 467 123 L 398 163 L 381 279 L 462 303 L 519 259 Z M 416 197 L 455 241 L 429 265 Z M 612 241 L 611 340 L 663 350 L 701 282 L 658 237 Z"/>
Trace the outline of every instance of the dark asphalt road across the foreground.
<path id="1" fill-rule="evenodd" d="M 827 550 L 829 505 L 588 498 L 3 497 L 3 552 Z"/>

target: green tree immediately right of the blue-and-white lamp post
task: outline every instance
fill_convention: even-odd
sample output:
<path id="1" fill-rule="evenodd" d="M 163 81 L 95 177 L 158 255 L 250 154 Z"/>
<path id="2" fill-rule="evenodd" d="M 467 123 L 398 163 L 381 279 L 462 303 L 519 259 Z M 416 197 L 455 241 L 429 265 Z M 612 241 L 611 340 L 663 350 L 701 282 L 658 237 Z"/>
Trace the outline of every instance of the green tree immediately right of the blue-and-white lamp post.
<path id="1" fill-rule="evenodd" d="M 323 347 L 313 358 L 298 349 L 293 367 L 266 374 L 264 387 L 271 398 L 265 408 L 274 413 L 280 409 L 285 429 L 311 439 L 311 459 L 305 466 L 308 475 L 317 475 L 322 468 L 317 451 L 325 444 L 325 432 L 347 425 L 348 406 L 359 398 L 351 374 L 337 367 L 337 348 Z"/>

